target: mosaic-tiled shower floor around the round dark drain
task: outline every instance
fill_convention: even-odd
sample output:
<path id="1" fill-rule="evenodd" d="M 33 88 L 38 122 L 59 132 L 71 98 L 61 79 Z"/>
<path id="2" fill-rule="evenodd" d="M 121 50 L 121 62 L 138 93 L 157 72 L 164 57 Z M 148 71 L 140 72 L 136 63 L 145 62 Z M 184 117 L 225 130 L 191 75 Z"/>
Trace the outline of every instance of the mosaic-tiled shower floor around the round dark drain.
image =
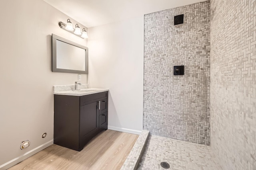
<path id="1" fill-rule="evenodd" d="M 222 170 L 210 146 L 151 135 L 138 170 L 165 170 L 161 162 L 170 170 Z"/>

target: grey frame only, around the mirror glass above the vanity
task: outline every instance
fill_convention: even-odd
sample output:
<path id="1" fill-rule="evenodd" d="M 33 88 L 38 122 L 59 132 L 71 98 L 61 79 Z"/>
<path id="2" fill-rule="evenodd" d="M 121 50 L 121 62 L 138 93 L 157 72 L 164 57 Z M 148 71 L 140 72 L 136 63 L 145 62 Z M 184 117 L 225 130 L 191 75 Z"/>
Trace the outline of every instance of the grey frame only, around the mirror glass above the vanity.
<path id="1" fill-rule="evenodd" d="M 76 47 L 79 47 L 81 49 L 85 50 L 85 70 L 68 70 L 68 69 L 62 69 L 57 68 L 57 56 L 56 56 L 56 41 L 62 41 L 64 43 L 68 43 L 70 45 L 74 45 Z M 88 47 L 85 47 L 83 45 L 80 45 L 78 43 L 74 43 L 68 39 L 64 39 L 62 37 L 59 37 L 58 35 L 52 34 L 52 72 L 67 72 L 67 73 L 78 73 L 78 74 L 88 74 Z"/>

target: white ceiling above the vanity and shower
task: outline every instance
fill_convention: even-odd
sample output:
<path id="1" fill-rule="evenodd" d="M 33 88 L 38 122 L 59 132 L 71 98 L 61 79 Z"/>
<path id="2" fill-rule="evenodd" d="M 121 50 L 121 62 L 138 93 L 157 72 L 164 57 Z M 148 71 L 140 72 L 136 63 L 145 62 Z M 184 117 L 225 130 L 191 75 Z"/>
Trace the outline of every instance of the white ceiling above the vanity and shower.
<path id="1" fill-rule="evenodd" d="M 95 27 L 205 0 L 44 0 L 86 27 Z"/>

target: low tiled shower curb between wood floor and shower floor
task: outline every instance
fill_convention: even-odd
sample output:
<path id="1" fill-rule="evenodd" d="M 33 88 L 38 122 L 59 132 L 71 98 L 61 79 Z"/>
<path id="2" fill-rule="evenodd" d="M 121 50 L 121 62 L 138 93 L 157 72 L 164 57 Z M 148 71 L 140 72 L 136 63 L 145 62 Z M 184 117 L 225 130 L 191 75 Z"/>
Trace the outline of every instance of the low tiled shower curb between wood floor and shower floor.
<path id="1" fill-rule="evenodd" d="M 149 131 L 141 131 L 140 136 L 132 147 L 132 150 L 130 151 L 120 170 L 136 170 L 138 168 L 146 142 L 148 140 L 148 136 Z"/>

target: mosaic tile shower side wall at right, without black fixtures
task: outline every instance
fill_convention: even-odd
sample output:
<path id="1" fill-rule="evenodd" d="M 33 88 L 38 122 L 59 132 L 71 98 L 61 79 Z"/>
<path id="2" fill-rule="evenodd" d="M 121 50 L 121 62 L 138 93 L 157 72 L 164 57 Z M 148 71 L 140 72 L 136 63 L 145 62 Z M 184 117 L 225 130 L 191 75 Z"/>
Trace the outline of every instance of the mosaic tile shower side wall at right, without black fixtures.
<path id="1" fill-rule="evenodd" d="M 211 0 L 211 145 L 225 170 L 256 170 L 256 0 Z"/>

